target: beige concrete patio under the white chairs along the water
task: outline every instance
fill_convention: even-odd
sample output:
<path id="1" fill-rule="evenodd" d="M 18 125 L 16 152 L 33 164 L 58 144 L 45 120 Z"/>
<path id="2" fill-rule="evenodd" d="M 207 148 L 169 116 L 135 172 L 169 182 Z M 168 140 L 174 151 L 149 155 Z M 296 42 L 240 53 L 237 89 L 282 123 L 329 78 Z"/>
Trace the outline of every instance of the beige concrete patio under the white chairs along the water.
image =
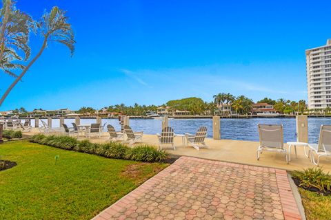
<path id="1" fill-rule="evenodd" d="M 91 138 L 90 141 L 99 143 L 108 142 L 108 133 L 103 133 L 103 136 L 100 138 Z M 143 143 L 158 145 L 157 135 L 143 135 Z M 292 147 L 291 161 L 289 164 L 286 164 L 285 155 L 274 152 L 263 152 L 260 159 L 257 160 L 256 151 L 259 142 L 213 140 L 206 138 L 205 143 L 210 146 L 210 148 L 201 148 L 199 151 L 191 146 L 183 146 L 182 137 L 175 137 L 174 143 L 176 151 L 169 147 L 165 148 L 167 153 L 252 166 L 279 168 L 283 170 L 302 170 L 303 168 L 315 166 L 310 162 L 309 158 L 305 157 L 302 146 L 297 146 L 297 158 L 295 158 L 294 148 Z M 285 144 L 285 146 L 288 148 L 287 144 Z M 331 158 L 321 157 L 320 166 L 323 166 L 323 170 L 331 172 Z"/>

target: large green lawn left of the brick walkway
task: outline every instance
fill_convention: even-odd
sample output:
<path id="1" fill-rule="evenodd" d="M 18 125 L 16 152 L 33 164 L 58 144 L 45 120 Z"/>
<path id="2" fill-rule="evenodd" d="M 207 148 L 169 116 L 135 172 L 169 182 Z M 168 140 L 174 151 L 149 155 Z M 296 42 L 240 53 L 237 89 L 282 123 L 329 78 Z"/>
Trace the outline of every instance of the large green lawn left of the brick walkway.
<path id="1" fill-rule="evenodd" d="M 0 144 L 0 159 L 17 162 L 0 171 L 0 219 L 91 219 L 168 166 L 26 141 Z"/>

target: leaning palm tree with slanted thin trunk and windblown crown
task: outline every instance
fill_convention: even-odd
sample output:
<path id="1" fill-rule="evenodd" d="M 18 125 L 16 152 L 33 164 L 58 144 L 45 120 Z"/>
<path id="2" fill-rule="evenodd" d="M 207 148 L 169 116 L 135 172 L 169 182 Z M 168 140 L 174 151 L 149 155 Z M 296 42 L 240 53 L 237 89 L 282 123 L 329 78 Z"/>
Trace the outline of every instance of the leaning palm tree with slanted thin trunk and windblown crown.
<path id="1" fill-rule="evenodd" d="M 23 76 L 28 72 L 28 69 L 34 64 L 35 61 L 41 56 L 43 51 L 49 42 L 58 42 L 66 45 L 71 52 L 71 55 L 74 53 L 74 34 L 70 23 L 68 23 L 68 17 L 66 17 L 66 11 L 60 10 L 57 6 L 54 6 L 50 13 L 43 14 L 41 21 L 35 23 L 39 32 L 43 36 L 43 44 L 38 54 L 32 58 L 30 63 L 23 68 L 21 74 L 17 76 L 14 82 L 8 87 L 6 92 L 0 99 L 0 106 L 3 101 L 6 99 L 12 88 L 14 88 L 17 83 L 23 78 Z"/>

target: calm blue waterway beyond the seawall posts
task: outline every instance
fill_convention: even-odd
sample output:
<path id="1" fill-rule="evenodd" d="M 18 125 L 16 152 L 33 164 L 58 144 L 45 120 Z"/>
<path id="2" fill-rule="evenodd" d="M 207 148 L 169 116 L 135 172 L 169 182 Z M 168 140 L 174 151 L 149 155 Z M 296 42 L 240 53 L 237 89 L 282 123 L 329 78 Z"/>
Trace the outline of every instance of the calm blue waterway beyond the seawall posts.
<path id="1" fill-rule="evenodd" d="M 46 119 L 43 121 L 47 123 Z M 81 119 L 81 124 L 91 124 L 95 121 L 95 119 Z M 65 120 L 68 126 L 71 126 L 72 122 L 74 119 Z M 102 123 L 112 124 L 117 131 L 121 129 L 118 119 L 103 118 Z M 221 138 L 259 141 L 257 124 L 283 124 L 284 142 L 297 140 L 295 118 L 221 119 Z M 309 142 L 318 142 L 321 124 L 331 124 L 331 118 L 308 118 Z M 59 127 L 59 119 L 53 119 L 52 126 Z M 144 131 L 146 134 L 161 132 L 161 120 L 130 119 L 130 126 L 134 131 Z M 212 137 L 211 119 L 172 119 L 169 120 L 169 126 L 172 126 L 175 133 L 195 133 L 200 126 L 207 126 L 208 137 Z"/>

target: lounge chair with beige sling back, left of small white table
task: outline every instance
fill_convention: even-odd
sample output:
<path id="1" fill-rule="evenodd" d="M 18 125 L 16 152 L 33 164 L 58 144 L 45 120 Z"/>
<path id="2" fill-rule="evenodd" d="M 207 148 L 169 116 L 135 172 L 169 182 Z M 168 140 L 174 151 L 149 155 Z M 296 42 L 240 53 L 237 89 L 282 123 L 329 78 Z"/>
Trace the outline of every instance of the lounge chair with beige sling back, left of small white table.
<path id="1" fill-rule="evenodd" d="M 283 143 L 282 124 L 258 124 L 260 146 L 257 148 L 257 160 L 260 159 L 262 151 L 274 151 L 285 153 L 286 163 L 288 164 L 288 153 Z"/>

